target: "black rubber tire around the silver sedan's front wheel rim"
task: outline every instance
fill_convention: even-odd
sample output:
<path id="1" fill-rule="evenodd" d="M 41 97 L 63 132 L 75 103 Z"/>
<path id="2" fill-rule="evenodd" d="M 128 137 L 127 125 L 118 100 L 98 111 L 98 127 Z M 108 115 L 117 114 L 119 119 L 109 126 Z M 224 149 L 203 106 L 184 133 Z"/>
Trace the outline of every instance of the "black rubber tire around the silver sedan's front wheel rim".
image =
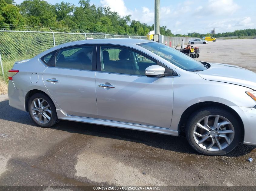
<path id="1" fill-rule="evenodd" d="M 234 135 L 232 134 L 233 140 L 231 141 L 231 143 L 226 148 L 218 151 L 208 151 L 200 147 L 194 139 L 194 127 L 196 126 L 196 124 L 202 118 L 210 115 L 219 115 L 228 119 L 234 128 Z M 241 125 L 237 118 L 231 114 L 231 112 L 228 112 L 227 110 L 224 110 L 220 107 L 206 107 L 192 113 L 191 116 L 188 118 L 186 124 L 186 137 L 191 147 L 194 148 L 194 150 L 198 151 L 199 153 L 206 155 L 223 155 L 232 151 L 238 145 L 239 141 L 241 140 Z"/>

